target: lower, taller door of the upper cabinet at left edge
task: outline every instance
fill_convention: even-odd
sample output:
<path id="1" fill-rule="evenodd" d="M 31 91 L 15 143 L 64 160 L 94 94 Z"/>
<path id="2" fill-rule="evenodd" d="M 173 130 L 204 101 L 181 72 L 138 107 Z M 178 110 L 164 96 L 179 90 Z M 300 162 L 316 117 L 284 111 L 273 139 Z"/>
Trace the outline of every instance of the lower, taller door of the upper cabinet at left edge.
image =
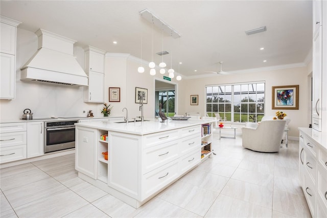
<path id="1" fill-rule="evenodd" d="M 2 44 L 3 45 L 3 44 Z M 0 53 L 1 74 L 0 74 L 0 98 L 15 98 L 15 56 Z"/>

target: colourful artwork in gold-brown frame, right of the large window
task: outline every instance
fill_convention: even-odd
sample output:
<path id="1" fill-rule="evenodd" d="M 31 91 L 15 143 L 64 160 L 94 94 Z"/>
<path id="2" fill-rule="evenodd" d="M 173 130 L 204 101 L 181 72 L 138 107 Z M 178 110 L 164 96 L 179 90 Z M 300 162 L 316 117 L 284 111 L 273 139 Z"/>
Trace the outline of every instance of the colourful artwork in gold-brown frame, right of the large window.
<path id="1" fill-rule="evenodd" d="M 298 85 L 272 86 L 271 107 L 298 110 Z"/>

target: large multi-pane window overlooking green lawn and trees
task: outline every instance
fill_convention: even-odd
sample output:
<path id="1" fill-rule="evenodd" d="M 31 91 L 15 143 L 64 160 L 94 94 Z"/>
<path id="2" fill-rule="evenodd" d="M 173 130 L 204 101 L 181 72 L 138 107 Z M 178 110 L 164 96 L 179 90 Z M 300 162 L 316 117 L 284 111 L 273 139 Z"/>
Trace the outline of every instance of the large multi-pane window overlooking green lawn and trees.
<path id="1" fill-rule="evenodd" d="M 265 115 L 265 83 L 206 86 L 206 113 L 233 122 L 259 122 Z"/>

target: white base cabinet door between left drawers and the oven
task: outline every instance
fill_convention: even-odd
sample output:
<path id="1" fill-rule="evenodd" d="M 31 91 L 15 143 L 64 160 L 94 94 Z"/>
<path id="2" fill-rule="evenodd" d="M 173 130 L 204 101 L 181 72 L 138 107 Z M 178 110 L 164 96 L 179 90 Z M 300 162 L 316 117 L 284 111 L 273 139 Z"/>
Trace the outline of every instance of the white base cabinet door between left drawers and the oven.
<path id="1" fill-rule="evenodd" d="M 44 123 L 27 123 L 27 158 L 44 154 Z"/>

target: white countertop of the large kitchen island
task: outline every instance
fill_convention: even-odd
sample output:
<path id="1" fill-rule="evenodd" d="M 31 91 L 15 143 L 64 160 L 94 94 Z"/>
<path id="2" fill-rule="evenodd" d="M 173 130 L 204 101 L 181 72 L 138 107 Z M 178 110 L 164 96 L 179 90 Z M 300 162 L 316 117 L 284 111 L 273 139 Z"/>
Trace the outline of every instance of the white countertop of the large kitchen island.
<path id="1" fill-rule="evenodd" d="M 200 125 L 208 122 L 214 122 L 211 119 L 199 120 L 171 120 L 168 119 L 164 123 L 160 119 L 144 121 L 144 122 L 129 122 L 129 123 L 114 123 L 107 121 L 91 121 L 86 123 L 75 123 L 76 126 L 84 126 L 96 129 L 102 129 L 113 132 L 129 133 L 134 135 L 146 135 L 158 133 L 162 131 L 183 128 L 193 125 Z"/>

